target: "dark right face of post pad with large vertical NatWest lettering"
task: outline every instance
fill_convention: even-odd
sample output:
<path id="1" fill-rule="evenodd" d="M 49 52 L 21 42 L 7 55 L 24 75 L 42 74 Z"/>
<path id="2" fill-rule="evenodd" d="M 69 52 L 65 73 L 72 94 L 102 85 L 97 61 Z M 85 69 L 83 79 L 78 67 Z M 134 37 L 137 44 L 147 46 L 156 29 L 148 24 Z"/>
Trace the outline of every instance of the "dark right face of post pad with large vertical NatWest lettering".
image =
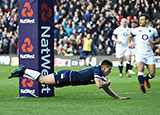
<path id="1" fill-rule="evenodd" d="M 40 0 L 39 1 L 39 39 L 40 39 L 40 59 L 39 69 L 42 75 L 48 75 L 54 69 L 54 18 L 53 18 L 53 0 Z M 40 96 L 52 96 L 51 91 L 53 87 L 49 85 L 40 84 Z"/>

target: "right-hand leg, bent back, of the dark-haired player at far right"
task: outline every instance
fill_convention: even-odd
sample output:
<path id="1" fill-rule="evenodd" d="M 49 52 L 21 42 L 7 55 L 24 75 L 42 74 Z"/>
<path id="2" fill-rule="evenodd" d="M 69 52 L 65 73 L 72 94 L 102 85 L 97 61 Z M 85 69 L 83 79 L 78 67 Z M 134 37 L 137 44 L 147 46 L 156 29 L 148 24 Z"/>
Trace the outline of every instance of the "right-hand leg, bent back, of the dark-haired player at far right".
<path id="1" fill-rule="evenodd" d="M 148 88 L 151 88 L 151 85 L 149 83 L 149 79 L 152 79 L 155 77 L 155 73 L 156 73 L 156 68 L 155 68 L 155 64 L 148 64 L 147 65 L 148 71 L 149 73 L 147 74 L 147 76 L 145 77 L 145 84 Z"/>

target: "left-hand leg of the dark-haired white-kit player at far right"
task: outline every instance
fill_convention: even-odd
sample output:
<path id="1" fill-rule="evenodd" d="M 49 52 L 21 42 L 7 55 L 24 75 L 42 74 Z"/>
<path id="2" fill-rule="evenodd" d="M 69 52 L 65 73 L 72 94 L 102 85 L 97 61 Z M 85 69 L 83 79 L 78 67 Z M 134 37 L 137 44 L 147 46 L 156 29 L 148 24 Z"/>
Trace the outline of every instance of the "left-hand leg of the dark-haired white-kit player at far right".
<path id="1" fill-rule="evenodd" d="M 138 69 L 138 81 L 140 83 L 140 89 L 143 93 L 146 93 L 146 89 L 144 87 L 144 66 L 145 64 L 143 62 L 137 62 L 136 63 L 137 69 Z"/>

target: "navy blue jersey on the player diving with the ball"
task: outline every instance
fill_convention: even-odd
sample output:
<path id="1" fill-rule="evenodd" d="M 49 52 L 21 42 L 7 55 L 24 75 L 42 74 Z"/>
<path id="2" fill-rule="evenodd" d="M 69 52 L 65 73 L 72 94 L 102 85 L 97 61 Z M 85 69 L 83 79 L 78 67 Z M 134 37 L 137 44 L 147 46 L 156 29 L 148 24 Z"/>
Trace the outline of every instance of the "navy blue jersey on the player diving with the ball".
<path id="1" fill-rule="evenodd" d="M 71 85 L 87 85 L 95 83 L 94 78 L 102 77 L 101 66 L 90 67 L 71 72 Z"/>

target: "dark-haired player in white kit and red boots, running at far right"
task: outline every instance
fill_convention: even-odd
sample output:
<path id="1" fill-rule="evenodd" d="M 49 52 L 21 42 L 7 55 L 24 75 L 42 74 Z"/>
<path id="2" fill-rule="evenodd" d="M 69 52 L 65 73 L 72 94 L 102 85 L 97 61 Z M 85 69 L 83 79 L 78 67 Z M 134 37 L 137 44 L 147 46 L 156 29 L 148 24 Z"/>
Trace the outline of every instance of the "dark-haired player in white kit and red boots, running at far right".
<path id="1" fill-rule="evenodd" d="M 128 47 L 132 48 L 131 38 L 135 39 L 135 56 L 136 66 L 138 69 L 138 80 L 140 89 L 146 93 L 144 82 L 150 88 L 149 79 L 155 77 L 155 57 L 153 53 L 153 46 L 160 42 L 158 39 L 158 32 L 151 26 L 148 26 L 149 16 L 143 14 L 140 16 L 140 27 L 135 28 L 128 37 Z M 149 73 L 144 77 L 144 66 L 147 66 Z"/>

